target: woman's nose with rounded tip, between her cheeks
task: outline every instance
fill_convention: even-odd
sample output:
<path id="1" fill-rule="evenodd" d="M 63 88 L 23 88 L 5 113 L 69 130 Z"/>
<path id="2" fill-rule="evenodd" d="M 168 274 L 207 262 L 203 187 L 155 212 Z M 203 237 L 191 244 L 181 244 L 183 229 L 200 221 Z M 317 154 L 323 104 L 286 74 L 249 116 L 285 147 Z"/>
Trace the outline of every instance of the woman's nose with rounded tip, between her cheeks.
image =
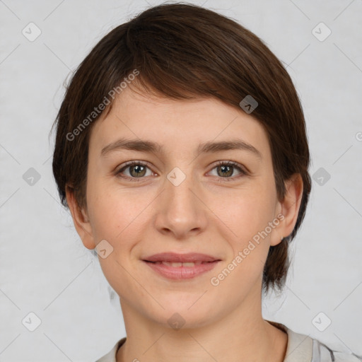
<path id="1" fill-rule="evenodd" d="M 191 175 L 179 168 L 171 171 L 159 198 L 155 226 L 160 233 L 183 240 L 205 230 L 207 207 L 202 202 L 201 187 Z"/>

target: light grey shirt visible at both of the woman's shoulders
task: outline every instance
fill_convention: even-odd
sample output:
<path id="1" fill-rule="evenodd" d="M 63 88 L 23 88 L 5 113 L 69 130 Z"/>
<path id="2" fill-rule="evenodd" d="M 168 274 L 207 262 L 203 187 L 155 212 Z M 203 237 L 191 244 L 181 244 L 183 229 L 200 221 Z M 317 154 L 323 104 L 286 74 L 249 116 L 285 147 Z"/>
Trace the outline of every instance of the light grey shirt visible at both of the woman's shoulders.
<path id="1" fill-rule="evenodd" d="M 325 344 L 300 334 L 277 322 L 267 321 L 288 334 L 288 344 L 283 362 L 362 362 L 362 357 L 342 351 L 332 351 Z M 116 362 L 117 350 L 127 337 L 119 339 L 115 346 L 105 356 L 95 362 Z"/>

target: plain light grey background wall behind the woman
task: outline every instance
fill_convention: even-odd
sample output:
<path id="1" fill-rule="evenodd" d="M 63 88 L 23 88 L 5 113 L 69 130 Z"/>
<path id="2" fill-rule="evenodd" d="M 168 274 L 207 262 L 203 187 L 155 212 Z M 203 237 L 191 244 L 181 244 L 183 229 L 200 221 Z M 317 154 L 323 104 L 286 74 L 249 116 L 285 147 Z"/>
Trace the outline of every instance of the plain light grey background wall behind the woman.
<path id="1" fill-rule="evenodd" d="M 161 2 L 0 1 L 0 361 L 95 361 L 125 335 L 118 298 L 59 204 L 48 134 L 71 71 L 112 28 Z M 264 318 L 362 354 L 362 0 L 194 4 L 261 37 L 305 111 L 313 191 L 286 292 L 263 300 Z M 33 41 L 30 22 L 41 30 Z M 324 40 L 320 22 L 332 31 Z M 33 185 L 29 168 L 40 175 Z M 41 320 L 33 332 L 31 312 Z"/>

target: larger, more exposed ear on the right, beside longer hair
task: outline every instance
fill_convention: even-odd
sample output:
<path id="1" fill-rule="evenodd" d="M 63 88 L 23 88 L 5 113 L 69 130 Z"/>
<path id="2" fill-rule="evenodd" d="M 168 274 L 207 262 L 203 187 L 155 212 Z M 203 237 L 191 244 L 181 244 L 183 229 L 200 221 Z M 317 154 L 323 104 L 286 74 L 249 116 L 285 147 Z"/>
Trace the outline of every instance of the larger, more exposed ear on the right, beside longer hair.
<path id="1" fill-rule="evenodd" d="M 283 218 L 279 218 L 280 223 L 276 228 L 274 238 L 271 238 L 271 246 L 277 245 L 281 242 L 281 237 L 286 238 L 296 226 L 300 203 L 303 196 L 303 179 L 300 173 L 295 173 L 286 180 L 286 194 L 284 199 L 278 202 L 279 214 Z M 277 216 L 276 216 L 277 217 Z"/>

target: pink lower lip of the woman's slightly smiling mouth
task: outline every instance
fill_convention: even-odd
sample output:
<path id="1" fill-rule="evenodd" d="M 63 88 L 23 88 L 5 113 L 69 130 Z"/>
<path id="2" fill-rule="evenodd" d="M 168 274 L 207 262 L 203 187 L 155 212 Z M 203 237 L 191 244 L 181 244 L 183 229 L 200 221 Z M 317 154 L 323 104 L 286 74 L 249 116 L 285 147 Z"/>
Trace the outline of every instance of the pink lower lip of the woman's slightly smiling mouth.
<path id="1" fill-rule="evenodd" d="M 201 274 L 214 269 L 216 264 L 218 264 L 219 260 L 215 262 L 206 262 L 199 265 L 194 265 L 194 267 L 171 267 L 170 265 L 165 264 L 156 264 L 152 262 L 145 262 L 149 267 L 151 267 L 154 271 L 157 271 L 158 274 L 165 276 L 168 279 L 192 279 L 195 276 L 199 276 Z"/>

